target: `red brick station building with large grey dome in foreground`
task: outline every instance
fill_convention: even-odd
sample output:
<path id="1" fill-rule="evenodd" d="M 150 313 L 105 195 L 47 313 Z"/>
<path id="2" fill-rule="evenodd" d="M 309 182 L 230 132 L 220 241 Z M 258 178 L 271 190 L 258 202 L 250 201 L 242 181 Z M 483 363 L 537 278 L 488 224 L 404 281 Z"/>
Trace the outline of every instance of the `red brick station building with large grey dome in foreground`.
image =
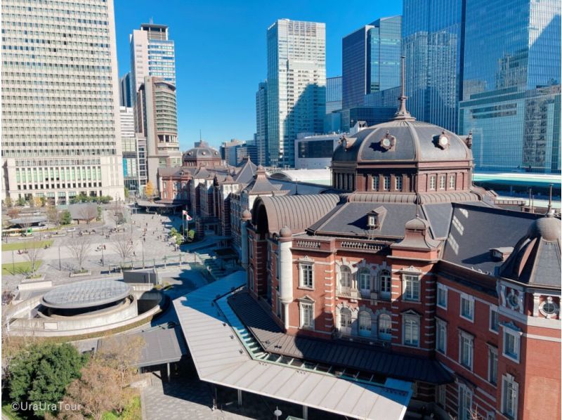
<path id="1" fill-rule="evenodd" d="M 256 199 L 249 293 L 296 343 L 264 346 L 412 381 L 442 419 L 559 419 L 560 219 L 497 208 L 470 146 L 403 106 L 342 139 L 333 193 Z"/>

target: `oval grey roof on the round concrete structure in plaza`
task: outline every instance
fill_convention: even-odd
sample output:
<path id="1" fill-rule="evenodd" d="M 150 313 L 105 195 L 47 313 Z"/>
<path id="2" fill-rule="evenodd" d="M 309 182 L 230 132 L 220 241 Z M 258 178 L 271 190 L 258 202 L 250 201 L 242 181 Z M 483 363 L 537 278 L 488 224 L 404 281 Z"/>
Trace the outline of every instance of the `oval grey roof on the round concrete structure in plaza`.
<path id="1" fill-rule="evenodd" d="M 48 291 L 41 304 L 48 308 L 89 308 L 120 301 L 131 294 L 129 284 L 117 280 L 86 280 Z"/>

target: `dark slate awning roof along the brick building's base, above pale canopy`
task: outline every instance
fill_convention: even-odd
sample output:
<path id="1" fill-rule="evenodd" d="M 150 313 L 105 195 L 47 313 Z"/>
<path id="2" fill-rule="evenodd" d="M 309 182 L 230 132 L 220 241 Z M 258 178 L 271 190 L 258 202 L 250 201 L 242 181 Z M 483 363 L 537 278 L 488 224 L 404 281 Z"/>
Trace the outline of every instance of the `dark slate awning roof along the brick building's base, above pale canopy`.
<path id="1" fill-rule="evenodd" d="M 230 296 L 228 303 L 268 353 L 407 381 L 450 383 L 453 380 L 436 360 L 360 343 L 285 334 L 247 291 Z"/>

